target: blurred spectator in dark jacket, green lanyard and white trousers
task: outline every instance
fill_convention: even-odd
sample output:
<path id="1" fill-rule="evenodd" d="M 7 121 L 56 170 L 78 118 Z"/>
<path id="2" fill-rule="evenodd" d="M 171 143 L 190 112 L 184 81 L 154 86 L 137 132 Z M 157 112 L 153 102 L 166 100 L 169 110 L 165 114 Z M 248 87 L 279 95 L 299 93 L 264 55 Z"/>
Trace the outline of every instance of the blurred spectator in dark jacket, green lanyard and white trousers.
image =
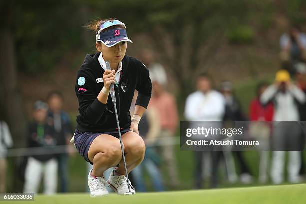
<path id="1" fill-rule="evenodd" d="M 54 194 L 57 188 L 58 162 L 54 154 L 55 130 L 46 122 L 48 105 L 34 103 L 34 121 L 29 125 L 28 147 L 32 148 L 25 169 L 24 193 L 37 193 L 42 174 L 44 193 Z"/>

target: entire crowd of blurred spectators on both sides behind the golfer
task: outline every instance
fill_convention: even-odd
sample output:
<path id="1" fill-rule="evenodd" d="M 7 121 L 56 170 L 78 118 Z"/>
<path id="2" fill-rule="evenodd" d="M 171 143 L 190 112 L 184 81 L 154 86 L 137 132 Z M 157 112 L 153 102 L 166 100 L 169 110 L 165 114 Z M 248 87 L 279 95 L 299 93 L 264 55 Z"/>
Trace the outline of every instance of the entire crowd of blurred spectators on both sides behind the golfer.
<path id="1" fill-rule="evenodd" d="M 306 35 L 299 27 L 293 26 L 281 37 L 280 47 L 282 67 L 276 72 L 274 83 L 258 83 L 249 115 L 243 112 L 232 82 L 226 80 L 214 86 L 213 79 L 202 73 L 196 79 L 197 90 L 186 98 L 184 118 L 190 121 L 224 121 L 226 127 L 233 125 L 234 121 L 253 121 L 249 126 L 250 135 L 262 140 L 263 144 L 275 145 L 277 149 L 285 145 L 292 146 L 292 149 L 296 146 L 304 148 L 304 126 L 287 121 L 306 120 Z M 130 177 L 140 192 L 147 191 L 145 170 L 155 191 L 177 189 L 181 182 L 172 141 L 180 119 L 175 96 L 167 91 L 167 71 L 161 64 L 155 63 L 153 53 L 144 51 L 142 61 L 150 72 L 153 89 L 148 109 L 138 125 L 146 144 L 145 158 Z M 136 96 L 137 92 L 131 113 Z M 26 193 L 37 193 L 42 177 L 44 193 L 56 193 L 57 178 L 60 181 L 59 191 L 69 191 L 68 158 L 75 152 L 69 141 L 74 127 L 70 116 L 62 109 L 64 98 L 60 92 L 50 92 L 45 101 L 38 100 L 33 104 L 34 119 L 28 126 L 27 146 L 31 153 L 24 169 Z M 8 125 L 0 118 L 0 193 L 5 192 L 7 148 L 12 145 Z M 284 182 L 285 151 L 262 150 L 259 153 L 259 182 L 266 183 L 269 177 L 274 184 Z M 302 182 L 305 173 L 303 159 L 302 151 L 288 151 L 288 182 Z M 194 151 L 194 161 L 195 166 L 190 173 L 194 175 L 194 188 L 197 189 L 203 188 L 204 178 L 207 177 L 211 180 L 210 187 L 218 187 L 220 166 L 224 167 L 224 176 L 231 183 L 251 183 L 255 180 L 255 173 L 243 151 Z M 88 163 L 88 171 L 90 169 L 92 165 Z M 161 169 L 164 171 L 161 172 Z M 111 171 L 109 169 L 105 173 L 110 174 Z M 170 182 L 164 182 L 165 178 Z"/>

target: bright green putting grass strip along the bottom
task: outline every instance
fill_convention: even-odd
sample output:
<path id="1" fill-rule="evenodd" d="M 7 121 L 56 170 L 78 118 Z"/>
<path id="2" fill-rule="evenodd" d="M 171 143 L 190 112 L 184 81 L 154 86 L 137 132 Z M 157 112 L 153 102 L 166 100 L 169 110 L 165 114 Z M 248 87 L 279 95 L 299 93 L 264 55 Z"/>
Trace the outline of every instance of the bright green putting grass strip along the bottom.
<path id="1" fill-rule="evenodd" d="M 214 190 L 188 190 L 161 193 L 137 193 L 132 196 L 110 194 L 91 198 L 89 194 L 71 193 L 53 196 L 37 195 L 27 203 L 306 203 L 306 184 L 264 187 L 226 188 Z M 7 203 L 14 203 L 12 201 Z M 20 203 L 20 202 L 16 202 Z"/>

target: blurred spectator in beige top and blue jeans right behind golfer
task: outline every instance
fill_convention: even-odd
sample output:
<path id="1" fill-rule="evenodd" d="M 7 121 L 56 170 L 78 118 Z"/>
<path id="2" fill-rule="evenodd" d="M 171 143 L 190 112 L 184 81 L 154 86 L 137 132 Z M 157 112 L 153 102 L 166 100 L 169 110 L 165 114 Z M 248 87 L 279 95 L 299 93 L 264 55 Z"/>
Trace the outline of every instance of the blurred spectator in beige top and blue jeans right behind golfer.
<path id="1" fill-rule="evenodd" d="M 133 98 L 131 106 L 131 115 L 133 115 L 137 93 Z M 145 168 L 151 178 L 155 191 L 164 191 L 162 175 L 159 171 L 160 156 L 156 153 L 153 145 L 156 143 L 157 137 L 160 136 L 160 123 L 157 111 L 150 107 L 143 114 L 138 125 L 140 136 L 143 138 L 146 150 L 144 160 L 131 172 L 134 178 L 135 188 L 139 192 L 146 192 L 144 183 L 143 168 Z"/>

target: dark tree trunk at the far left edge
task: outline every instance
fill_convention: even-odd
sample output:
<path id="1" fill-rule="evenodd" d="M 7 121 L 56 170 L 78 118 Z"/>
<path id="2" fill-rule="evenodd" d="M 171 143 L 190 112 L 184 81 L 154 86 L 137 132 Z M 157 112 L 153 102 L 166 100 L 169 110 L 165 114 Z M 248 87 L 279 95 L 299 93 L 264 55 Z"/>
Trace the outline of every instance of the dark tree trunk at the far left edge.
<path id="1" fill-rule="evenodd" d="M 15 41 L 12 33 L 13 4 L 11 1 L 1 1 L 0 7 L 1 13 L 4 14 L 0 28 L 1 108 L 5 110 L 15 147 L 22 147 L 27 131 L 16 70 Z"/>

